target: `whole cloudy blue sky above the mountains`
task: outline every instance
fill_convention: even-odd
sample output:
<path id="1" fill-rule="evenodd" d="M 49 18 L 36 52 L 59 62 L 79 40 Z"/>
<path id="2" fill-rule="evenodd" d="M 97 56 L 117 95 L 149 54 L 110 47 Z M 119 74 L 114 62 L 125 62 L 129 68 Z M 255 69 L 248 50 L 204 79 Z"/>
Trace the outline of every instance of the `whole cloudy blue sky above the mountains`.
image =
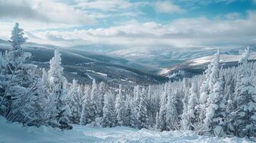
<path id="1" fill-rule="evenodd" d="M 120 48 L 256 44 L 256 0 L 0 0 L 0 39 Z"/>

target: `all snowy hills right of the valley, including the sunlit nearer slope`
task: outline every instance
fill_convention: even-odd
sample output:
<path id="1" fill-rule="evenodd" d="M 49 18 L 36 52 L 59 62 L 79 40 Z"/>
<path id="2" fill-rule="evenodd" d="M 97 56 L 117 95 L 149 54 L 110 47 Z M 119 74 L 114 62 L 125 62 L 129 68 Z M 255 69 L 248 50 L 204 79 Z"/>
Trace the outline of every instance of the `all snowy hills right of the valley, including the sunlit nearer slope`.
<path id="1" fill-rule="evenodd" d="M 237 66 L 237 61 L 244 52 L 245 46 L 224 46 L 219 48 L 222 54 L 220 59 L 223 67 Z M 251 59 L 255 59 L 256 46 L 251 45 Z M 111 51 L 109 55 L 119 55 L 139 64 L 150 64 L 161 70 L 155 74 L 170 79 L 181 79 L 202 74 L 207 69 L 207 64 L 212 60 L 212 55 L 217 52 L 216 47 L 192 48 L 131 48 Z"/>

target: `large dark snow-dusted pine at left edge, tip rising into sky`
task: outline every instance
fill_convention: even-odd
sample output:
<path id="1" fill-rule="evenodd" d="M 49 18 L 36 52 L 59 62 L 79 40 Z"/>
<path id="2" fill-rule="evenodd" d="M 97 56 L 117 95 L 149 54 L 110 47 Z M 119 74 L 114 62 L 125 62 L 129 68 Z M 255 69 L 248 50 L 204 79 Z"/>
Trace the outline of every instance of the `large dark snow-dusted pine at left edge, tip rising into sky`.
<path id="1" fill-rule="evenodd" d="M 0 111 L 11 122 L 29 124 L 38 118 L 32 111 L 36 110 L 35 103 L 39 97 L 39 80 L 34 74 L 37 66 L 25 63 L 32 54 L 22 49 L 22 44 L 27 41 L 23 35 L 23 29 L 19 29 L 19 24 L 16 23 L 11 32 L 11 49 L 1 56 L 4 59 L 1 61 L 4 85 L 1 86 Z"/>

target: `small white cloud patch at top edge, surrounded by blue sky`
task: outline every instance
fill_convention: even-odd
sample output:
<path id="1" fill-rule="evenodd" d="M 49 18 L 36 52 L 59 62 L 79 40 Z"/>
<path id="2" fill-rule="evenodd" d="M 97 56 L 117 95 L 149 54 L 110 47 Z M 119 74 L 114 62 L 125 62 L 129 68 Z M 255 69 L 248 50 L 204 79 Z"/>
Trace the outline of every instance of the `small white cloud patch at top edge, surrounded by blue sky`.
<path id="1" fill-rule="evenodd" d="M 171 1 L 157 1 L 154 4 L 154 9 L 158 13 L 183 13 L 185 10 L 181 9 L 180 6 L 173 4 Z"/>

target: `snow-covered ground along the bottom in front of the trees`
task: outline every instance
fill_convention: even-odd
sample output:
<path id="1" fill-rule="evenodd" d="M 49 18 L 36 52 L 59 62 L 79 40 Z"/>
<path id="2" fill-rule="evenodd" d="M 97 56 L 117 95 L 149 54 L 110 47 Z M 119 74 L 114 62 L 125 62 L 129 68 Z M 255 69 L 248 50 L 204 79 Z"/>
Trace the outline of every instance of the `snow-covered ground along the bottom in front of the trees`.
<path id="1" fill-rule="evenodd" d="M 49 127 L 22 127 L 21 124 L 6 123 L 0 117 L 0 143 L 30 143 L 30 142 L 241 142 L 249 143 L 247 139 L 217 138 L 197 136 L 192 132 L 154 132 L 147 129 L 132 129 L 129 127 L 95 128 L 75 125 L 69 131 L 60 131 Z"/>

